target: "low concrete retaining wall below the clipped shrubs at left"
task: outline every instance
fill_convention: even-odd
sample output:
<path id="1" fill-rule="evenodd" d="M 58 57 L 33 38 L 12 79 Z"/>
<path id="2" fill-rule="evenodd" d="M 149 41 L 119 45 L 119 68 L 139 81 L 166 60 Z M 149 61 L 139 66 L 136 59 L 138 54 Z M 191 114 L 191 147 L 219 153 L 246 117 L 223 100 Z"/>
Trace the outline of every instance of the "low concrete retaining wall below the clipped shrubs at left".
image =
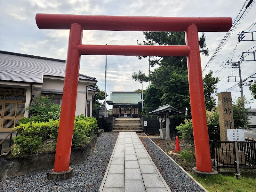
<path id="1" fill-rule="evenodd" d="M 94 135 L 87 146 L 71 149 L 70 164 L 85 161 L 96 141 L 97 135 Z M 6 157 L 6 154 L 3 153 L 0 156 L 0 180 L 42 170 L 50 170 L 54 166 L 54 159 L 55 152 L 17 157 Z"/>

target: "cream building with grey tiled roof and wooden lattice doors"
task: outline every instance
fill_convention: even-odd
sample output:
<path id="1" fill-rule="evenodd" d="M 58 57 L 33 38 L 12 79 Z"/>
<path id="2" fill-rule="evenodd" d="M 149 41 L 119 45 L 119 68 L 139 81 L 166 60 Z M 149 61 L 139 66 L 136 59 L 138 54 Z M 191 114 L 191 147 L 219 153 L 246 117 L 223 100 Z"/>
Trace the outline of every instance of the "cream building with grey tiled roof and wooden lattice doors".
<path id="1" fill-rule="evenodd" d="M 33 97 L 52 95 L 61 105 L 65 67 L 65 60 L 0 51 L 0 132 L 12 131 L 28 117 L 25 106 Z M 79 75 L 76 115 L 92 116 L 92 95 L 98 90 L 90 86 L 96 83 L 95 77 Z"/>

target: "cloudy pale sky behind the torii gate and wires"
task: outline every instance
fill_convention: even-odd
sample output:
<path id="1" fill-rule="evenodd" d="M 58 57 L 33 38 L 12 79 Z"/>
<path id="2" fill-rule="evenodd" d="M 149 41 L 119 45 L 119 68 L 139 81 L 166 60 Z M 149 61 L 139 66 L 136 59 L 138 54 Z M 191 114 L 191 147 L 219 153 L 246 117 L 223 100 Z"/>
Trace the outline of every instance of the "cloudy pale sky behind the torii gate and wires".
<path id="1" fill-rule="evenodd" d="M 1 0 L 0 1 L 0 50 L 66 59 L 69 30 L 40 30 L 36 26 L 36 13 L 124 15 L 124 16 L 171 16 L 171 17 L 232 17 L 234 19 L 244 2 L 249 0 Z M 253 1 L 253 3 L 255 0 Z M 237 43 L 237 33 L 243 31 L 255 19 L 256 4 L 238 25 L 233 35 L 222 48 L 205 73 L 215 73 L 231 54 Z M 256 25 L 251 29 L 256 31 Z M 201 56 L 202 68 L 220 44 L 225 32 L 206 32 L 206 44 L 210 56 Z M 201 36 L 201 33 L 199 33 Z M 91 31 L 83 34 L 83 44 L 136 45 L 142 42 L 142 32 Z M 241 42 L 234 53 L 232 62 L 239 55 L 255 46 L 256 41 Z M 254 47 L 250 51 L 254 51 Z M 256 62 L 242 62 L 242 79 L 256 72 Z M 148 73 L 148 60 L 132 56 L 107 57 L 107 92 L 134 91 L 141 84 L 132 80 L 133 69 Z M 220 68 L 222 69 L 222 67 Z M 152 69 L 151 69 L 152 70 Z M 86 55 L 81 57 L 80 73 L 96 77 L 100 89 L 105 86 L 105 56 Z M 218 92 L 236 83 L 226 83 L 227 76 L 239 75 L 238 69 L 224 69 L 215 75 L 221 78 Z M 252 80 L 252 79 L 249 79 Z M 143 87 L 148 86 L 144 83 Z M 238 89 L 235 89 L 236 91 Z M 245 97 L 252 97 L 249 86 L 244 87 Z M 232 92 L 233 97 L 240 92 Z M 256 103 L 248 107 L 256 108 Z"/>

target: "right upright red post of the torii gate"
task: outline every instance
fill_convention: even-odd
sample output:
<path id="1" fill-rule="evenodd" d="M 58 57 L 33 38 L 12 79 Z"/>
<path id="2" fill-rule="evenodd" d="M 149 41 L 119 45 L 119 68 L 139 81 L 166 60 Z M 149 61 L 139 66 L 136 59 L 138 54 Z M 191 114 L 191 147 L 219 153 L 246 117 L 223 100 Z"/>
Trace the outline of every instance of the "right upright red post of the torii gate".
<path id="1" fill-rule="evenodd" d="M 188 54 L 188 84 L 196 153 L 196 169 L 212 172 L 210 145 L 204 103 L 204 87 L 199 50 L 198 29 L 195 24 L 185 32 L 186 45 L 191 47 Z"/>

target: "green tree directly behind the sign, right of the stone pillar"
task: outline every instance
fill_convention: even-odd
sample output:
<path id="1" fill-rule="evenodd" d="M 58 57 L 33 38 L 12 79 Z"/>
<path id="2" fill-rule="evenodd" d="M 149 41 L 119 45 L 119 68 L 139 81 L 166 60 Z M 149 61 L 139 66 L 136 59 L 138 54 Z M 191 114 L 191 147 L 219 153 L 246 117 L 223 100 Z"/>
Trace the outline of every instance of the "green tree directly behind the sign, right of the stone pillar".
<path id="1" fill-rule="evenodd" d="M 246 99 L 238 97 L 237 100 L 233 102 L 233 116 L 234 116 L 234 127 L 235 129 L 247 129 L 250 124 L 250 117 L 247 113 L 250 112 L 248 108 L 243 106 L 249 104 Z"/>

